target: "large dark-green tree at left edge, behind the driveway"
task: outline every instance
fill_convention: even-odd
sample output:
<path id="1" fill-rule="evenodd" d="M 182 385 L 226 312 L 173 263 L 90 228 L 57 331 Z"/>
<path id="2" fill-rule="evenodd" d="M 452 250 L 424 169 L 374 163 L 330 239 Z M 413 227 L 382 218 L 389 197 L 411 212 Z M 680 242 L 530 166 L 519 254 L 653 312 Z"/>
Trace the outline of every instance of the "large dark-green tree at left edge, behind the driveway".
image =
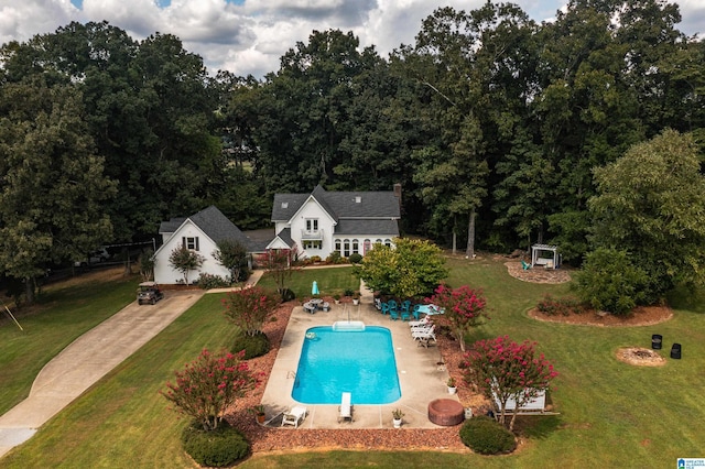
<path id="1" fill-rule="evenodd" d="M 0 270 L 25 283 L 110 239 L 116 183 L 95 154 L 80 95 L 30 76 L 0 87 Z"/>

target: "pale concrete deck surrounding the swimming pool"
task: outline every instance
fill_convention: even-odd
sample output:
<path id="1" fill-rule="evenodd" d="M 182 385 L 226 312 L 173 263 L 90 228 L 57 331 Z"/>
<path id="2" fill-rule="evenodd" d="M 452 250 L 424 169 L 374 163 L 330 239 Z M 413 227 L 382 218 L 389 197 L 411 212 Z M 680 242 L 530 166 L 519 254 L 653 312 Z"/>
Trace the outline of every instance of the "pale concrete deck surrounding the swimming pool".
<path id="1" fill-rule="evenodd" d="M 355 405 L 352 395 L 352 422 L 338 423 L 338 404 L 301 404 L 291 396 L 296 369 L 306 330 L 316 326 L 332 326 L 337 320 L 361 320 L 367 326 L 382 326 L 391 331 L 397 360 L 397 372 L 401 386 L 401 399 L 391 404 Z M 411 337 L 409 323 L 391 320 L 372 305 L 371 294 L 365 295 L 360 305 L 349 303 L 330 305 L 329 312 L 305 313 L 303 307 L 293 309 L 282 343 L 272 367 L 262 404 L 267 410 L 269 425 L 281 423 L 282 412 L 294 405 L 304 405 L 306 418 L 299 428 L 392 428 L 392 410 L 404 413 L 406 428 L 443 428 L 429 421 L 429 403 L 436 399 L 458 401 L 448 394 L 448 373 L 442 363 L 441 352 L 435 345 L 422 347 Z"/>

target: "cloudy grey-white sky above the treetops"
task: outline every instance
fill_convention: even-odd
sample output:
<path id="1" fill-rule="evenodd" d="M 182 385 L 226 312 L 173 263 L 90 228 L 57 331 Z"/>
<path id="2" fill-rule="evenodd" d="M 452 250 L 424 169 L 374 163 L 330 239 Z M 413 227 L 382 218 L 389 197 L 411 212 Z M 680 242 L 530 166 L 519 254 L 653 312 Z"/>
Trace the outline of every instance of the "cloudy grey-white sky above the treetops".
<path id="1" fill-rule="evenodd" d="M 360 47 L 387 57 L 413 44 L 435 9 L 470 11 L 485 0 L 0 0 L 0 43 L 53 33 L 72 21 L 107 20 L 134 40 L 170 33 L 218 69 L 257 78 L 279 70 L 280 58 L 313 31 L 352 31 Z M 533 20 L 551 21 L 566 0 L 513 0 Z M 705 33 L 705 0 L 679 0 L 685 34 Z M 701 37 L 703 35 L 701 34 Z"/>

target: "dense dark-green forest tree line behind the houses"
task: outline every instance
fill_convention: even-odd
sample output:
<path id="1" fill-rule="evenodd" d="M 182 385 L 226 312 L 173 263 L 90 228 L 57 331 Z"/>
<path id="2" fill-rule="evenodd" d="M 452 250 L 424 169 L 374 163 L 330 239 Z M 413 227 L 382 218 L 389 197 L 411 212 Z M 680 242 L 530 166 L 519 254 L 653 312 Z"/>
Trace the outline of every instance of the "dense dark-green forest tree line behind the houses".
<path id="1" fill-rule="evenodd" d="M 680 20 L 663 0 L 572 0 L 544 23 L 440 8 L 387 58 L 314 31 L 263 78 L 107 22 L 4 44 L 0 271 L 29 286 L 209 204 L 269 226 L 274 193 L 316 184 L 401 183 L 403 231 L 468 255 L 551 242 L 581 262 L 598 168 L 665 129 L 702 142 L 705 46 Z"/>

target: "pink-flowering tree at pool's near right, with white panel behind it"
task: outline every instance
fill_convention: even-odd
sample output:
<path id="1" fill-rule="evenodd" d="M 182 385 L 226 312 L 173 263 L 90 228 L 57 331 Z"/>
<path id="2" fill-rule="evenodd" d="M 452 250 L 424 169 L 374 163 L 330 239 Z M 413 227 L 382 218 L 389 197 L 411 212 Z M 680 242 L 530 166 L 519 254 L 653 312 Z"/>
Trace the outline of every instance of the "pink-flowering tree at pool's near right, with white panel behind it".
<path id="1" fill-rule="evenodd" d="M 520 345 L 503 336 L 479 340 L 464 356 L 465 381 L 498 404 L 502 424 L 507 402 L 514 400 L 510 430 L 514 428 L 517 411 L 545 392 L 551 380 L 558 374 L 543 353 L 536 357 L 535 345 L 528 340 Z"/>

